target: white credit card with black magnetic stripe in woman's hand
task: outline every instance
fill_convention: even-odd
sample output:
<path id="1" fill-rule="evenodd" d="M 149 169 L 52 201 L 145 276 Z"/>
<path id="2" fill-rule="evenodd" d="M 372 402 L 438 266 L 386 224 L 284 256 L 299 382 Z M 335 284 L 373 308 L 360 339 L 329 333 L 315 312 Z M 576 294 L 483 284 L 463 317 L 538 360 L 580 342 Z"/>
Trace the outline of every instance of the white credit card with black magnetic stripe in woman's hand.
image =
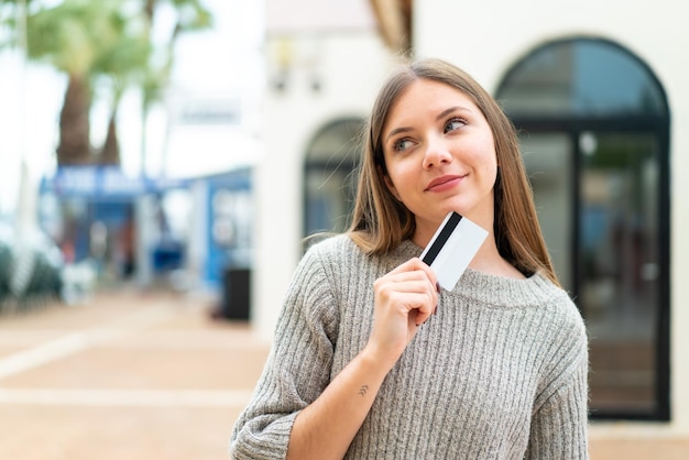
<path id="1" fill-rule="evenodd" d="M 433 269 L 440 286 L 452 291 L 485 237 L 485 229 L 450 211 L 422 252 L 420 260 Z"/>

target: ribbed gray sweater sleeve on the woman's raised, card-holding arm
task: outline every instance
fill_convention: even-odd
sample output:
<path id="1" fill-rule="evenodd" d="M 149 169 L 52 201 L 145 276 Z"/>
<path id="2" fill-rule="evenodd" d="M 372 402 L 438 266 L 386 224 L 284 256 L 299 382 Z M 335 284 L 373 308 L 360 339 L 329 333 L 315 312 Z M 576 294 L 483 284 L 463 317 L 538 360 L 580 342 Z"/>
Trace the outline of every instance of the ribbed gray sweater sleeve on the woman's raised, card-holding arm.
<path id="1" fill-rule="evenodd" d="M 309 251 L 287 289 L 252 401 L 234 425 L 232 459 L 285 458 L 294 419 L 327 386 L 338 324 L 328 277 Z"/>

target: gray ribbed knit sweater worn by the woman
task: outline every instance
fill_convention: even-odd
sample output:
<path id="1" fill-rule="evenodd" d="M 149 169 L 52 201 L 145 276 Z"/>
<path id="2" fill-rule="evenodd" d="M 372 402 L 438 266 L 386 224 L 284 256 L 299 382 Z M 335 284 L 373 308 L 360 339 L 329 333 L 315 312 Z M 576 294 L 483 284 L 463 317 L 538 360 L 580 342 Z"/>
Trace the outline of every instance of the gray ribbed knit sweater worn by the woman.
<path id="1" fill-rule="evenodd" d="M 282 459 L 300 409 L 364 347 L 373 282 L 420 248 L 363 254 L 315 244 L 286 293 L 275 340 L 230 454 Z M 442 291 L 387 374 L 347 459 L 587 459 L 587 336 L 567 294 L 538 274 L 467 270 Z"/>

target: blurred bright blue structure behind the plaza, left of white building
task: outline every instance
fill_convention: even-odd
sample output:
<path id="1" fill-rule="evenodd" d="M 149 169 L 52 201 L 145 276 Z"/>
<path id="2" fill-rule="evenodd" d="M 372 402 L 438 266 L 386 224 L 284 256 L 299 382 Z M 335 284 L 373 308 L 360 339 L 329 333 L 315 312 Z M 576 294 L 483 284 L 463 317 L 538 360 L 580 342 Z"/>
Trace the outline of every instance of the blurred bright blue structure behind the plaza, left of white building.
<path id="1" fill-rule="evenodd" d="M 190 205 L 189 216 L 183 216 L 188 227 L 184 238 L 168 231 L 171 216 L 165 215 L 164 206 L 166 196 L 179 190 Z M 41 196 L 56 202 L 52 211 L 42 209 L 40 219 L 44 229 L 61 228 L 56 242 L 68 262 L 94 258 L 94 222 L 108 229 L 110 247 L 121 252 L 117 244 L 122 243 L 113 233 L 121 232 L 135 216 L 135 228 L 144 241 L 143 249 L 138 243 L 139 249 L 147 258 L 143 261 L 146 266 L 140 269 L 150 270 L 152 276 L 185 267 L 192 247 L 197 254 L 193 276 L 211 289 L 223 288 L 229 270 L 250 269 L 253 206 L 249 167 L 195 178 L 153 179 L 125 176 L 112 166 L 69 166 L 42 180 Z M 146 210 L 135 212 L 138 204 Z M 167 207 L 171 210 L 177 218 L 184 212 L 174 206 Z M 111 256 L 107 255 L 110 263 Z"/>

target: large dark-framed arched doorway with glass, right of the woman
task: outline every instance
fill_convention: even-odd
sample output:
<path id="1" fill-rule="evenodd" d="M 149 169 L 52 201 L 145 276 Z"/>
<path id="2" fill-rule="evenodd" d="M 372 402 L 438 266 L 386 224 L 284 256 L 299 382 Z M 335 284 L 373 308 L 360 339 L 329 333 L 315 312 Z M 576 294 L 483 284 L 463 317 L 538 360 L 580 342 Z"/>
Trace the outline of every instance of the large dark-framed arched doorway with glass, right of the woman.
<path id="1" fill-rule="evenodd" d="M 591 338 L 591 416 L 669 419 L 669 109 L 604 40 L 547 43 L 496 98 L 520 130 L 538 217 Z"/>

